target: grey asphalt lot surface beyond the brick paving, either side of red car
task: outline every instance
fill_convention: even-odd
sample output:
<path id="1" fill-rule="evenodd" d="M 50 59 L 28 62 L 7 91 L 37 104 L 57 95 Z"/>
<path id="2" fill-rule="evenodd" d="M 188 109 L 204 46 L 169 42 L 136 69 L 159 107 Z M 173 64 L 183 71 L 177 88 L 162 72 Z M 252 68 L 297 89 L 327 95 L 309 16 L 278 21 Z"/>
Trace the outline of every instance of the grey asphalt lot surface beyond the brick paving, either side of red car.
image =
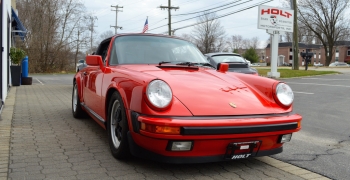
<path id="1" fill-rule="evenodd" d="M 272 157 L 331 179 L 350 179 L 350 73 L 342 71 L 344 74 L 281 79 L 292 87 L 294 111 L 303 116 L 303 122 L 284 152 Z M 72 77 L 36 75 L 33 83 L 69 85 Z"/>

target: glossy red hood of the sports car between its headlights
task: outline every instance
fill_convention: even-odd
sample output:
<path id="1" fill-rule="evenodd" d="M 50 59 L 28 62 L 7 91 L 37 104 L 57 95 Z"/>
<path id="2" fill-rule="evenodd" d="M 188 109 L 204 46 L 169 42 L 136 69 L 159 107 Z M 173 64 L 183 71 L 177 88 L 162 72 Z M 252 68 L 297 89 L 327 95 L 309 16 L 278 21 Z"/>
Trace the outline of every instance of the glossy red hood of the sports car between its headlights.
<path id="1" fill-rule="evenodd" d="M 254 90 L 235 78 L 234 73 L 224 74 L 206 68 L 158 68 L 147 65 L 127 66 L 126 68 L 166 81 L 173 95 L 194 116 L 260 115 L 286 112 L 282 108 L 276 108 L 275 103 L 271 104 L 270 101 L 259 96 L 259 93 L 254 93 Z"/>

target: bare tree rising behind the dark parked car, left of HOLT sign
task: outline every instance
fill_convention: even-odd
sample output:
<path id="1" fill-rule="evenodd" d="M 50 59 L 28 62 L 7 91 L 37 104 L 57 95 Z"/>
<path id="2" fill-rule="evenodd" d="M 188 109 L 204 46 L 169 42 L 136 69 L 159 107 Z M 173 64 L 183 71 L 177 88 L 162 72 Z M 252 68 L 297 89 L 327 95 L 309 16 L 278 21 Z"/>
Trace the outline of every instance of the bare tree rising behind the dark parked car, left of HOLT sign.
<path id="1" fill-rule="evenodd" d="M 216 19 L 214 13 L 205 12 L 197 20 L 198 25 L 192 31 L 192 37 L 202 53 L 209 53 L 222 49 L 225 30 Z"/>

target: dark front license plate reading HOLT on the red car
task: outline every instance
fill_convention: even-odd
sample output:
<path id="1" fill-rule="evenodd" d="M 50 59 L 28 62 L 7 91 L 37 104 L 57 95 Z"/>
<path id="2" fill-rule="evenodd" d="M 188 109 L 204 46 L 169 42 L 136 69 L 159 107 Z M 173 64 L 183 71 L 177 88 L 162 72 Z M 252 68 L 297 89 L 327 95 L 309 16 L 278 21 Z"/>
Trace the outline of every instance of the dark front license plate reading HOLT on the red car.
<path id="1" fill-rule="evenodd" d="M 228 144 L 225 159 L 245 159 L 259 151 L 261 141 L 236 142 Z"/>

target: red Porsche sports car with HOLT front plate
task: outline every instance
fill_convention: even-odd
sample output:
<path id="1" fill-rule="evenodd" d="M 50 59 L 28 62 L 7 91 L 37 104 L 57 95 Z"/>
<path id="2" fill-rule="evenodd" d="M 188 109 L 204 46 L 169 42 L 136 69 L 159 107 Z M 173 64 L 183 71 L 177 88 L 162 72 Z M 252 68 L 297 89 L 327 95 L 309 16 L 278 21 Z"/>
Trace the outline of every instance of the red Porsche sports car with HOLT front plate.
<path id="1" fill-rule="evenodd" d="M 301 129 L 293 91 L 273 79 L 216 70 L 185 40 L 119 34 L 73 80 L 72 111 L 107 130 L 117 159 L 229 161 L 282 152 Z"/>

